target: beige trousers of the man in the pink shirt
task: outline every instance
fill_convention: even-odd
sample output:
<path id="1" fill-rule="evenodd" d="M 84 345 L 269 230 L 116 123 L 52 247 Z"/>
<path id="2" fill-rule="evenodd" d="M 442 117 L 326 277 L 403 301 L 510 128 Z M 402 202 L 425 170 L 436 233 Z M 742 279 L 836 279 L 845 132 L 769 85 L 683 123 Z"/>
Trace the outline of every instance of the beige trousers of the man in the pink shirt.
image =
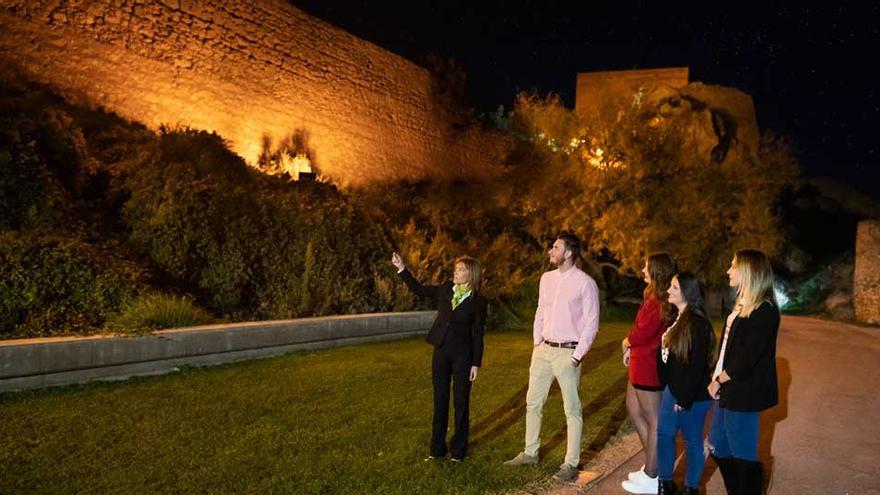
<path id="1" fill-rule="evenodd" d="M 581 430 L 584 421 L 581 413 L 581 399 L 578 386 L 581 381 L 581 367 L 571 365 L 574 349 L 550 347 L 541 344 L 532 351 L 532 364 L 529 367 L 529 392 L 526 395 L 526 448 L 528 455 L 538 455 L 541 446 L 541 416 L 544 402 L 555 378 L 562 391 L 562 404 L 565 407 L 565 421 L 568 431 L 568 444 L 565 450 L 565 463 L 577 467 L 581 456 Z"/>

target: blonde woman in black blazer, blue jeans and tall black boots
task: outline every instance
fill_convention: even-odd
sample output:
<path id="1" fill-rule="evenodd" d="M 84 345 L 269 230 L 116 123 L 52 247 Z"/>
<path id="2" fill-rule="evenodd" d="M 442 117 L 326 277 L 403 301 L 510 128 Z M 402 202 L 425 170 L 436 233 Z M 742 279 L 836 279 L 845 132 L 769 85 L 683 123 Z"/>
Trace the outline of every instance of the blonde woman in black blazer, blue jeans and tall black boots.
<path id="1" fill-rule="evenodd" d="M 773 268 L 761 251 L 737 251 L 727 270 L 736 304 L 727 317 L 709 395 L 712 410 L 709 450 L 728 493 L 760 494 L 763 465 L 758 460 L 761 411 L 778 400 L 776 336 L 779 309 Z"/>

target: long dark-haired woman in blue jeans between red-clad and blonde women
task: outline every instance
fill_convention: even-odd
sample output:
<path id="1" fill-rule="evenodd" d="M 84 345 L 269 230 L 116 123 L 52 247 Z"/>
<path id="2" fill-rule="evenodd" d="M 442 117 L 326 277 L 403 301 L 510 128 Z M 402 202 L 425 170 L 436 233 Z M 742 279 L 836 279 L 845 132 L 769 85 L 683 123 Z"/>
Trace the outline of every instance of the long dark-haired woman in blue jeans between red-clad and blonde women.
<path id="1" fill-rule="evenodd" d="M 681 430 L 687 457 L 684 493 L 690 495 L 699 493 L 703 474 L 703 425 L 711 404 L 706 387 L 714 364 L 715 333 L 693 273 L 682 272 L 672 279 L 669 302 L 678 308 L 678 318 L 663 333 L 657 356 L 664 386 L 657 426 L 658 493 L 676 493 L 675 435 Z"/>

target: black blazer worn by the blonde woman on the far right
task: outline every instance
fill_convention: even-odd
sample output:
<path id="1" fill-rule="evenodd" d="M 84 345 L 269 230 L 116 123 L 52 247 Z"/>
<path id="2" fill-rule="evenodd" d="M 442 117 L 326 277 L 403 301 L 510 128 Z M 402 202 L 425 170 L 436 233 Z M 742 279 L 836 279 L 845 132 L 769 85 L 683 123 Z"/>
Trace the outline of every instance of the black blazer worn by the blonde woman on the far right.
<path id="1" fill-rule="evenodd" d="M 724 371 L 730 381 L 721 385 L 721 407 L 731 411 L 757 412 L 779 403 L 776 381 L 778 333 L 779 310 L 769 301 L 761 303 L 748 318 L 733 320 L 724 355 Z M 724 342 L 723 338 L 721 342 Z"/>

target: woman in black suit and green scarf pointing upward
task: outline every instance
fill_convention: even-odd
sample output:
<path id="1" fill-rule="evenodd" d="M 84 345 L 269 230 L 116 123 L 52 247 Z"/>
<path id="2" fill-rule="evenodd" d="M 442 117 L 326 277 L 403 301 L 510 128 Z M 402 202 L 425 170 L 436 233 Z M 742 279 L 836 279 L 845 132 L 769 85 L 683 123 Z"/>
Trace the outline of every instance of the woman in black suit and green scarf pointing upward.
<path id="1" fill-rule="evenodd" d="M 480 295 L 480 264 L 462 256 L 455 260 L 452 282 L 422 285 L 406 269 L 400 255 L 391 263 L 416 295 L 437 301 L 437 318 L 426 340 L 434 346 L 431 375 L 434 383 L 434 421 L 431 452 L 426 460 L 446 455 L 446 427 L 449 422 L 449 385 L 452 382 L 455 434 L 449 445 L 452 460 L 461 461 L 467 452 L 470 428 L 471 382 L 483 360 L 483 331 L 486 299 Z"/>

